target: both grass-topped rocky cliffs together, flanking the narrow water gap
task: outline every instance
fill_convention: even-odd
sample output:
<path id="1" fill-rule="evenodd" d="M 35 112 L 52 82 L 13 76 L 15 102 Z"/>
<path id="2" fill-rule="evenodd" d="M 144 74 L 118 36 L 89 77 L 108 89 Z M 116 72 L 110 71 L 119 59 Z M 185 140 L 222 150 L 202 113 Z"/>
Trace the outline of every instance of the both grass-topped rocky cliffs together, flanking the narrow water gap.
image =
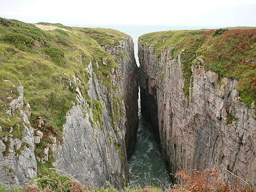
<path id="1" fill-rule="evenodd" d="M 214 168 L 255 187 L 255 29 L 132 38 L 113 29 L 0 18 L 0 182 L 64 174 L 129 183 L 141 113 L 169 171 Z"/>

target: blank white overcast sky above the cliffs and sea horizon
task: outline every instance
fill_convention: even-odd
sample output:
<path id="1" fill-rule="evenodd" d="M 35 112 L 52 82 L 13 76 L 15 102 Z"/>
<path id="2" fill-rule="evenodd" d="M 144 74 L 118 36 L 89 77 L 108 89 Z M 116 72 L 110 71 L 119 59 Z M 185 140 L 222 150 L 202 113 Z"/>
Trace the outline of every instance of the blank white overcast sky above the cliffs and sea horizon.
<path id="1" fill-rule="evenodd" d="M 256 0 L 0 0 L 0 16 L 26 23 L 256 26 Z"/>

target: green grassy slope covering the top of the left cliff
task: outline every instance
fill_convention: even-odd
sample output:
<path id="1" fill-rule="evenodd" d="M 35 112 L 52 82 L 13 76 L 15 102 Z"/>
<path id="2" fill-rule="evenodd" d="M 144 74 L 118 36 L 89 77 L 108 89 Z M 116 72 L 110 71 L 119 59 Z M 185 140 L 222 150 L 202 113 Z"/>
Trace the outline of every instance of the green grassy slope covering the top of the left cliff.
<path id="1" fill-rule="evenodd" d="M 45 123 L 42 131 L 51 132 L 62 140 L 66 112 L 76 102 L 76 87 L 88 98 L 88 74 L 84 69 L 93 63 L 96 76 L 108 85 L 107 76 L 117 65 L 101 46 L 118 45 L 127 37 L 112 29 L 38 24 L 57 28 L 41 30 L 34 24 L 0 18 L 0 138 L 7 135 L 10 126 L 19 119 L 18 115 L 10 118 L 5 110 L 18 98 L 18 85 L 23 85 L 24 102 L 30 104 L 32 126 L 37 129 L 38 117 L 42 116 Z M 107 65 L 103 65 L 103 59 L 107 60 Z M 99 68 L 94 63 L 98 63 Z"/>

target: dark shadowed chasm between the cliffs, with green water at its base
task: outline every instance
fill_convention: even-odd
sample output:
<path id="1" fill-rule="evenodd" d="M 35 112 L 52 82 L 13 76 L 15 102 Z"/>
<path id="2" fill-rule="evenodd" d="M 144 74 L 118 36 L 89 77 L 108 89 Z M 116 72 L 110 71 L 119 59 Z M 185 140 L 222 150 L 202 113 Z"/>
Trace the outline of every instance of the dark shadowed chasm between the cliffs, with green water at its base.
<path id="1" fill-rule="evenodd" d="M 141 73 L 139 73 L 141 75 Z M 141 80 L 141 77 L 140 77 Z M 140 81 L 139 80 L 139 81 Z M 160 138 L 158 134 L 158 120 L 156 102 L 154 98 L 148 98 L 144 90 L 139 91 L 138 98 L 138 130 L 135 148 L 129 157 L 130 185 L 135 187 L 155 186 L 169 188 L 172 183 L 168 166 L 162 155 Z M 149 102 L 151 105 L 148 105 Z M 152 103 L 155 105 L 152 105 Z M 151 107 L 149 109 L 148 107 Z"/>

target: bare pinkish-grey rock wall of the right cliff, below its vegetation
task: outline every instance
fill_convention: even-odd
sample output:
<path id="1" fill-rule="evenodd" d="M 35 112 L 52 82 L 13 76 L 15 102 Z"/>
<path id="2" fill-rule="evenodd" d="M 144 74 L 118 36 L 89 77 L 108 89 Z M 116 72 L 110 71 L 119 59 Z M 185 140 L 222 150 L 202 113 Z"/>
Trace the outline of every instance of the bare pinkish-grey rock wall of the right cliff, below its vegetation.
<path id="1" fill-rule="evenodd" d="M 240 101 L 236 80 L 206 71 L 203 59 L 191 66 L 186 96 L 181 56 L 171 51 L 139 43 L 141 110 L 158 127 L 171 173 L 215 168 L 231 185 L 246 183 L 229 171 L 255 187 L 254 108 Z"/>

